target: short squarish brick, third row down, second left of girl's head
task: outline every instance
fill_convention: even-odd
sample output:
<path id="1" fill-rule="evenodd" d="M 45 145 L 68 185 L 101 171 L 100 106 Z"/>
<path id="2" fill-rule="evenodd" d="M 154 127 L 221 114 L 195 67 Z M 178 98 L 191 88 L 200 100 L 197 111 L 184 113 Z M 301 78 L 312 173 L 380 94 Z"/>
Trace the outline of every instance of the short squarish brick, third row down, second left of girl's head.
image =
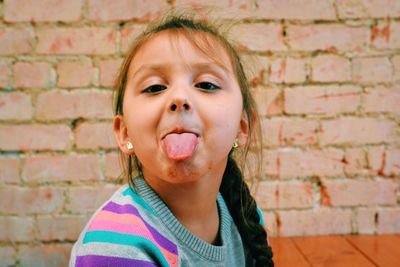
<path id="1" fill-rule="evenodd" d="M 57 64 L 57 86 L 72 88 L 86 87 L 93 80 L 92 63 L 85 61 L 62 61 Z"/>

